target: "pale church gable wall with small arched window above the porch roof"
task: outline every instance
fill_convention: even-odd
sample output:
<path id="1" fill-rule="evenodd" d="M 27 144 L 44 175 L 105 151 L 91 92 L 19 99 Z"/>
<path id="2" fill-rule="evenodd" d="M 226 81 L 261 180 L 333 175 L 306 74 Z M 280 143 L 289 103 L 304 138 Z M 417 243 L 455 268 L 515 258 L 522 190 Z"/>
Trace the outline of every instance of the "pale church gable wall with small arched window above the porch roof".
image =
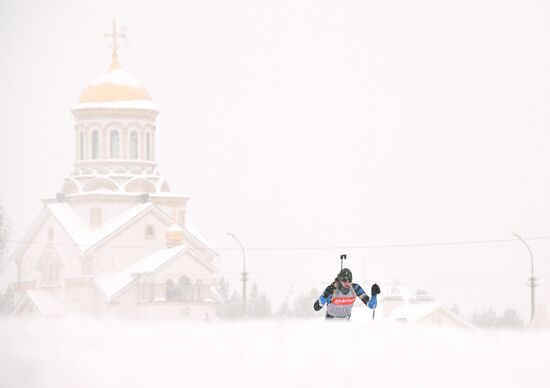
<path id="1" fill-rule="evenodd" d="M 153 227 L 154 237 L 146 237 L 148 226 Z M 157 249 L 167 247 L 165 230 L 166 225 L 161 220 L 151 213 L 146 214 L 93 252 L 95 269 L 98 273 L 120 272 Z"/>

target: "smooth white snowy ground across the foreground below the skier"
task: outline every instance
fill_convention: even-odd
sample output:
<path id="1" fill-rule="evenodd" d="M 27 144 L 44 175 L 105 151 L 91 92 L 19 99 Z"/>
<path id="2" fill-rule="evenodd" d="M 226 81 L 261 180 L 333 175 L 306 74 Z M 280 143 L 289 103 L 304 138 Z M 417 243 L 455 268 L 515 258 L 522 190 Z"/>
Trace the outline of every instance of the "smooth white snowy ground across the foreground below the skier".
<path id="1" fill-rule="evenodd" d="M 550 333 L 0 320 L 2 388 L 550 387 Z"/>

